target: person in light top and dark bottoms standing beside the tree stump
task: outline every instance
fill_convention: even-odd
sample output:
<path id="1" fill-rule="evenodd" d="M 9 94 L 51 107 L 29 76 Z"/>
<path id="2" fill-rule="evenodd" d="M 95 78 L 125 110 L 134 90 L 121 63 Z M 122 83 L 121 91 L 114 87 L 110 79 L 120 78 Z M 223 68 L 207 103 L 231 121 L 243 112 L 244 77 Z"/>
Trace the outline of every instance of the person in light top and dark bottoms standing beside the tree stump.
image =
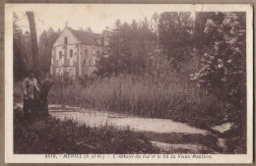
<path id="1" fill-rule="evenodd" d="M 38 100 L 38 92 L 40 91 L 37 80 L 34 78 L 34 73 L 29 72 L 29 77 L 22 84 L 24 93 L 24 116 L 28 118 L 29 111 L 36 111 L 36 103 Z"/>

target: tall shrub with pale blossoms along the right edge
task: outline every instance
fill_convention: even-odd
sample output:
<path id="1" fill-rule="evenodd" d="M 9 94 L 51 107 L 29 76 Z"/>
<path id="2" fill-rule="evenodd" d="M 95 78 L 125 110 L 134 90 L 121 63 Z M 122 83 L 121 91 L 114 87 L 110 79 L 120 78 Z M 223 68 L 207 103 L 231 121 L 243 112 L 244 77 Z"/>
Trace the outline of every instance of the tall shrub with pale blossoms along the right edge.
<path id="1" fill-rule="evenodd" d="M 221 18 L 222 22 L 206 23 L 204 32 L 212 42 L 191 79 L 216 93 L 226 104 L 228 118 L 240 124 L 246 116 L 245 18 L 241 13 L 224 13 Z"/>

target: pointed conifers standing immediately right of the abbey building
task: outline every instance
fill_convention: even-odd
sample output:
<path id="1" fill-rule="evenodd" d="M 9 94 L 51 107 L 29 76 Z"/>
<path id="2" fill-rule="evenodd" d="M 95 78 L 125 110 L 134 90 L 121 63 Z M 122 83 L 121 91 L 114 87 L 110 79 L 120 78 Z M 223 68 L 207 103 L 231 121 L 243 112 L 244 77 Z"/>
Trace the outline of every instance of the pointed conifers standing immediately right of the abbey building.
<path id="1" fill-rule="evenodd" d="M 150 59 L 156 46 L 155 36 L 145 19 L 131 25 L 118 20 L 110 32 L 108 56 L 97 63 L 98 76 L 142 74 L 149 72 Z"/>

